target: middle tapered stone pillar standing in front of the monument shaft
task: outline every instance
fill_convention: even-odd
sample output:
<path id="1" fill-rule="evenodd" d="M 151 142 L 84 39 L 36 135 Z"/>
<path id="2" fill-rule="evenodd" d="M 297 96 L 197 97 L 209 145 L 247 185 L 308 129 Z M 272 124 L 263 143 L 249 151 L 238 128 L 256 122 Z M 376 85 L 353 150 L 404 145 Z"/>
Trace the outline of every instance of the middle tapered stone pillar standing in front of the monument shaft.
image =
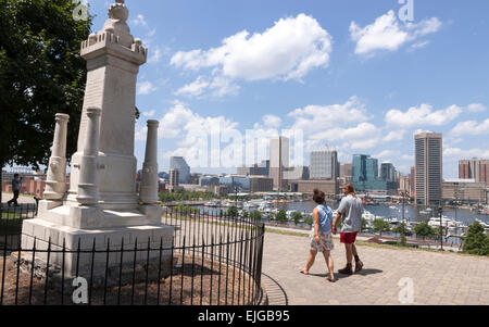
<path id="1" fill-rule="evenodd" d="M 99 201 L 97 171 L 99 164 L 100 115 L 99 108 L 87 108 L 87 129 L 84 153 L 79 164 L 78 194 L 76 200 L 83 205 L 93 205 Z"/>

